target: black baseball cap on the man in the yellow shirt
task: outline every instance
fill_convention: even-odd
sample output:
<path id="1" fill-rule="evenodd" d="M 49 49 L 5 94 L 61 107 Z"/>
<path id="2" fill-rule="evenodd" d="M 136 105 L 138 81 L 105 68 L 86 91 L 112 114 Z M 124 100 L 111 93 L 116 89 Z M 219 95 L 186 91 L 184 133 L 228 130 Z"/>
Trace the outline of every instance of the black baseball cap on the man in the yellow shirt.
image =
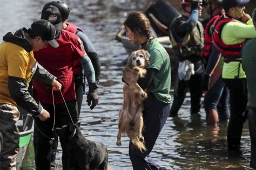
<path id="1" fill-rule="evenodd" d="M 40 36 L 43 40 L 47 40 L 53 48 L 59 47 L 58 42 L 54 39 L 56 28 L 48 20 L 36 20 L 32 23 L 28 32 L 33 36 Z"/>

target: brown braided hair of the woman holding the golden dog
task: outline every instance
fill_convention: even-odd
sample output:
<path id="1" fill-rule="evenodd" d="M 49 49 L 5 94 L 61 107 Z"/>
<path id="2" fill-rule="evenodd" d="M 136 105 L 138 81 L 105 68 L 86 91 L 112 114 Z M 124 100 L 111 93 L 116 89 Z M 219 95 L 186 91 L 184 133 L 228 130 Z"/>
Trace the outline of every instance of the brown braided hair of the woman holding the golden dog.
<path id="1" fill-rule="evenodd" d="M 142 12 L 130 12 L 124 22 L 124 25 L 134 32 L 134 36 L 138 33 L 140 36 L 145 37 L 146 44 L 149 42 L 151 36 L 150 22 Z"/>

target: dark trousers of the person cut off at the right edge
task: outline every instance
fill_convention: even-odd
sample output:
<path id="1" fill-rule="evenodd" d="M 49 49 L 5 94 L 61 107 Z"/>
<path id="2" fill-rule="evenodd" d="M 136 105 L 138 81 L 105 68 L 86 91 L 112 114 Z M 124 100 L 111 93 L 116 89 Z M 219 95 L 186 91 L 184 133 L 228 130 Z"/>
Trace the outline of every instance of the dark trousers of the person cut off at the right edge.
<path id="1" fill-rule="evenodd" d="M 249 132 L 251 137 L 250 167 L 256 169 L 256 110 L 249 109 Z"/>

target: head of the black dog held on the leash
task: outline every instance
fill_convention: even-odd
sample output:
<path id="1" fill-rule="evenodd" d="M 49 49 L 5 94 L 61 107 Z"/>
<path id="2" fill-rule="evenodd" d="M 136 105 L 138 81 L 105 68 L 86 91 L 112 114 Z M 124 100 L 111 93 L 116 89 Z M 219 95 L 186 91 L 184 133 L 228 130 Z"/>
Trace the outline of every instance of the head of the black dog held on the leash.
<path id="1" fill-rule="evenodd" d="M 64 125 L 62 128 L 56 128 L 56 134 L 59 136 L 60 140 L 69 141 L 76 133 L 79 131 L 77 125 Z"/>

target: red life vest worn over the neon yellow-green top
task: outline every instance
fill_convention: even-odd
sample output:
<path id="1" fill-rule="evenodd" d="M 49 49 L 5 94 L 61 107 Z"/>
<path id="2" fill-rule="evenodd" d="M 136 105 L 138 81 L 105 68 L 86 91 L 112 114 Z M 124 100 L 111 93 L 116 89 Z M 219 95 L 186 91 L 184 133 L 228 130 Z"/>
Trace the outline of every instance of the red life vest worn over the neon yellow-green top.
<path id="1" fill-rule="evenodd" d="M 224 44 L 221 39 L 221 31 L 226 23 L 239 22 L 233 18 L 225 18 L 224 16 L 219 17 L 213 23 L 214 31 L 212 33 L 213 44 L 218 51 L 223 55 L 224 62 L 237 61 L 241 58 L 241 49 L 244 46 L 244 42 L 238 44 Z"/>

